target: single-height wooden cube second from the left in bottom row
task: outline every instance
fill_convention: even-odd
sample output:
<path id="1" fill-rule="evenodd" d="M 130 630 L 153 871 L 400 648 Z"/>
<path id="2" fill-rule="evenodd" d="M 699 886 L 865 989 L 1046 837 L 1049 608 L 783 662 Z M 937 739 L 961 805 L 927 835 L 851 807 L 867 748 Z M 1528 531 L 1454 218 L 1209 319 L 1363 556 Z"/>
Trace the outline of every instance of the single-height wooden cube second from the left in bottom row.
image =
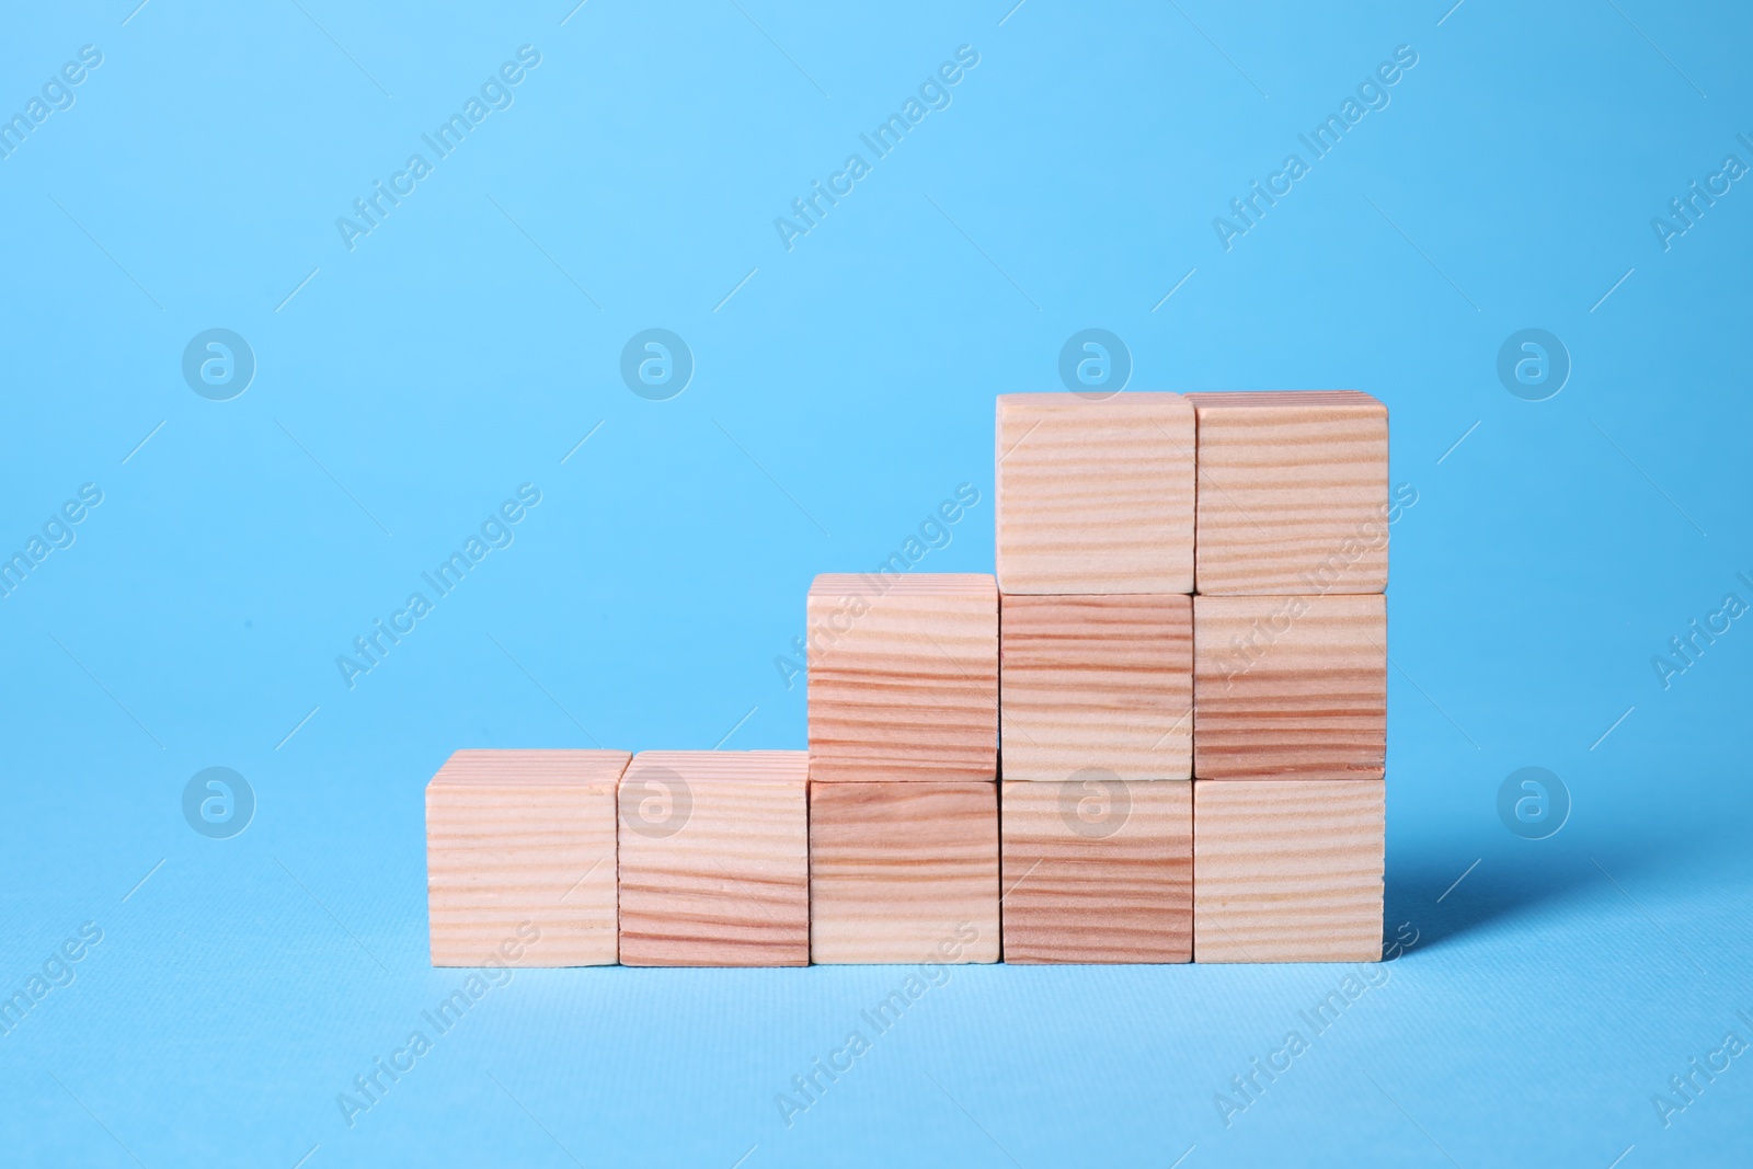
<path id="1" fill-rule="evenodd" d="M 810 757 L 647 750 L 621 778 L 621 962 L 810 962 Z"/>

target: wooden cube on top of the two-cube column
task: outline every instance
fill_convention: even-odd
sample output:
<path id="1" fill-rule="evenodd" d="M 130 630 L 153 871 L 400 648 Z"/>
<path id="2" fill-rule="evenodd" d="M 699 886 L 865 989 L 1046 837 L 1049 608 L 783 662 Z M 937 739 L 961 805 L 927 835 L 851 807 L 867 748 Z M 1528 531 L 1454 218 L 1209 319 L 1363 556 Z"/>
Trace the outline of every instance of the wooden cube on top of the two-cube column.
<path id="1" fill-rule="evenodd" d="M 815 578 L 810 778 L 997 778 L 997 587 L 936 573 Z"/>

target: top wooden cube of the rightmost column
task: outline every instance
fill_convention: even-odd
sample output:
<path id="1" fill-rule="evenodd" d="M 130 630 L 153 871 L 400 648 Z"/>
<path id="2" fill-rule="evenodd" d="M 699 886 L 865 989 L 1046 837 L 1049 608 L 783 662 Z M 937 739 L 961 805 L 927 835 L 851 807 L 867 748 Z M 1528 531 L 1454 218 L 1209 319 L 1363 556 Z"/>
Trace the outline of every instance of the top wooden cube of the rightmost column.
<path id="1" fill-rule="evenodd" d="M 1388 585 L 1388 408 L 1355 389 L 1187 394 L 1211 596 Z"/>

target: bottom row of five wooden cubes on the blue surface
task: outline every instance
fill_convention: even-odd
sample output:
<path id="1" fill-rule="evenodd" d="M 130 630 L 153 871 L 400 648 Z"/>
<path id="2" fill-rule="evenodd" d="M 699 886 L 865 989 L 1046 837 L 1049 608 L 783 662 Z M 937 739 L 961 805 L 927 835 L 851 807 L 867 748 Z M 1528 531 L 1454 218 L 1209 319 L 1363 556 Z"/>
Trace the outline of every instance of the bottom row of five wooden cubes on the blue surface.
<path id="1" fill-rule="evenodd" d="M 808 754 L 463 750 L 433 966 L 1360 962 L 1381 780 L 810 782 Z"/>

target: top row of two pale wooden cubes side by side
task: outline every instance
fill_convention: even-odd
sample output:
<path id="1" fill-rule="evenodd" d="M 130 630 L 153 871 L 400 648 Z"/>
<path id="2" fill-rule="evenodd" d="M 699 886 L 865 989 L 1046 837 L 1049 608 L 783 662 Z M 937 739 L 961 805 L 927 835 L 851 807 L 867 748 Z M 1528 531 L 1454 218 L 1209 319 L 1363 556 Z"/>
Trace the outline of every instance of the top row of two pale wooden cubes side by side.
<path id="1" fill-rule="evenodd" d="M 997 587 L 1381 592 L 1388 410 L 1359 391 L 1001 394 Z"/>

